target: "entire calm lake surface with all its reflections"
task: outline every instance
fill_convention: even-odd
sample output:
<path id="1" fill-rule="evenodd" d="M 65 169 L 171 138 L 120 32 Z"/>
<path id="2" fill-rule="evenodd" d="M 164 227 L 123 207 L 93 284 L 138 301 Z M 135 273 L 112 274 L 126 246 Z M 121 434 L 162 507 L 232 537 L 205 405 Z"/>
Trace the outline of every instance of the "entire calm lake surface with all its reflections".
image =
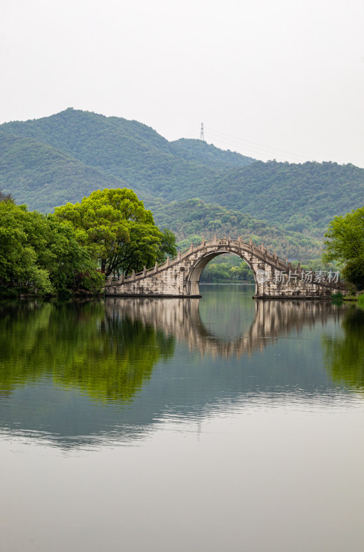
<path id="1" fill-rule="evenodd" d="M 0 304 L 0 550 L 357 552 L 364 311 Z"/>

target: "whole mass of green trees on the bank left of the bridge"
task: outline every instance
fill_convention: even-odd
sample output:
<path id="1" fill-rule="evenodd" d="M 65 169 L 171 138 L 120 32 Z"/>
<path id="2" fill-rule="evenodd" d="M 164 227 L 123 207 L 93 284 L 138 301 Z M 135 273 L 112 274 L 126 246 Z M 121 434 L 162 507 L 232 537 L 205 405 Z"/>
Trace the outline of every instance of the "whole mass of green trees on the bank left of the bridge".
<path id="1" fill-rule="evenodd" d="M 132 190 L 97 190 L 43 215 L 0 192 L 0 295 L 100 293 L 111 273 L 164 262 L 175 237 Z"/>

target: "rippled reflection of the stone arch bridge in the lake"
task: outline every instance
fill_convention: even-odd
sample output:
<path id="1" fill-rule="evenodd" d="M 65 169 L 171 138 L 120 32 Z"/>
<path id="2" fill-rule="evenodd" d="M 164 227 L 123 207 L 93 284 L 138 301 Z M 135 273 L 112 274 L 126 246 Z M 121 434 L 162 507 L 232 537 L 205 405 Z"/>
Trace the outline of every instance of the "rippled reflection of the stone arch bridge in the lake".
<path id="1" fill-rule="evenodd" d="M 126 297 L 108 299 L 105 313 L 108 317 L 119 315 L 132 322 L 141 320 L 155 329 L 174 336 L 177 341 L 197 349 L 201 355 L 240 358 L 255 350 L 263 351 L 267 344 L 292 331 L 301 332 L 303 326 L 326 324 L 338 319 L 340 311 L 328 302 L 303 302 L 276 299 L 270 302 L 254 301 L 254 317 L 243 335 L 229 339 L 215 335 L 200 315 L 201 299 L 147 299 Z"/>

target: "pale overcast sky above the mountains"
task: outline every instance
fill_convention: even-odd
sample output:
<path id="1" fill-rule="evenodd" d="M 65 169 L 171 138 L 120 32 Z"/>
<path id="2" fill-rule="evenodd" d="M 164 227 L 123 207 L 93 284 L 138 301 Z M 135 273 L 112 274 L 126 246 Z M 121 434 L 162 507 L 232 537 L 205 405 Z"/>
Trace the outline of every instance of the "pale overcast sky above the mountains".
<path id="1" fill-rule="evenodd" d="M 364 167 L 363 0 L 0 0 L 0 123 L 74 107 Z"/>

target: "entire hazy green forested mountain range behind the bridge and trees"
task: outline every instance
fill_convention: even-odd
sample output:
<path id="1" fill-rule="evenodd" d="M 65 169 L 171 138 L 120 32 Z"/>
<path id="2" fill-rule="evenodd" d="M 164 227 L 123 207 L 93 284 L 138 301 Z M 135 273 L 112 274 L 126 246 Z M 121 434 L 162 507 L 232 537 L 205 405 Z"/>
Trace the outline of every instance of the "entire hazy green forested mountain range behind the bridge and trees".
<path id="1" fill-rule="evenodd" d="M 321 240 L 335 215 L 364 204 L 364 169 L 351 164 L 263 163 L 200 140 L 169 142 L 137 121 L 72 108 L 0 126 L 0 190 L 30 209 L 50 212 L 97 188 L 124 186 L 179 237 L 208 236 L 213 227 L 244 234 L 249 213 L 250 221 L 258 219 L 257 237 L 263 237 L 263 220 L 303 248 L 314 248 L 310 239 Z M 210 215 L 200 217 L 185 203 L 195 197 L 209 204 Z M 225 210 L 213 214 L 216 206 Z M 236 213 L 244 220 L 235 222 Z"/>

